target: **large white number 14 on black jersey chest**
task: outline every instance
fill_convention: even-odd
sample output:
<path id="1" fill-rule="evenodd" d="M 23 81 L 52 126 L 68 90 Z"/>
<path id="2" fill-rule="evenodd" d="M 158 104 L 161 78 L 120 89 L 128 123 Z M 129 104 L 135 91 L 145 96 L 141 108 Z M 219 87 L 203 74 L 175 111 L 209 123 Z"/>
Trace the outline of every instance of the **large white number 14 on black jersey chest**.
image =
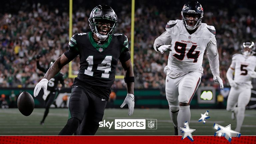
<path id="1" fill-rule="evenodd" d="M 88 56 L 86 61 L 89 63 L 88 68 L 84 70 L 84 74 L 93 76 L 93 56 Z M 111 71 L 111 61 L 112 61 L 112 56 L 106 56 L 105 59 L 101 62 L 101 64 L 98 64 L 97 70 L 104 71 L 101 74 L 102 78 L 109 78 L 109 71 Z"/>

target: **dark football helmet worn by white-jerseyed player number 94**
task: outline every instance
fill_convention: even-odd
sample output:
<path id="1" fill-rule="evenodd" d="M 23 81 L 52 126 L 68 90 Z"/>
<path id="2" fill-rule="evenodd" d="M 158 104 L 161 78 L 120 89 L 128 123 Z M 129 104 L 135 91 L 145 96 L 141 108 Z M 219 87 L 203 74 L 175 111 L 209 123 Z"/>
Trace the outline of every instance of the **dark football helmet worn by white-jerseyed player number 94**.
<path id="1" fill-rule="evenodd" d="M 185 17 L 186 14 L 196 14 L 196 15 L 198 15 L 198 20 L 197 20 L 197 22 L 194 26 L 189 26 L 187 24 L 187 21 L 186 21 L 187 19 Z M 181 11 L 183 24 L 186 26 L 186 28 L 188 30 L 194 30 L 195 28 L 197 28 L 202 22 L 203 15 L 204 15 L 204 10 L 202 8 L 202 5 L 197 1 L 187 2 L 183 6 L 182 11 Z"/>

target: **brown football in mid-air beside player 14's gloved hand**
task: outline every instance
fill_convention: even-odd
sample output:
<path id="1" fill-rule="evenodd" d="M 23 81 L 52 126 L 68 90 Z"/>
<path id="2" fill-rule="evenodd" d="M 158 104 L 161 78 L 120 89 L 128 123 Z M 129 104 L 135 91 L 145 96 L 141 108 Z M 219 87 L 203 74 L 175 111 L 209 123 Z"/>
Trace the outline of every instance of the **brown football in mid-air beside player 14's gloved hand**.
<path id="1" fill-rule="evenodd" d="M 34 110 L 35 103 L 33 97 L 28 92 L 24 91 L 19 95 L 17 105 L 19 111 L 24 116 L 29 116 Z"/>

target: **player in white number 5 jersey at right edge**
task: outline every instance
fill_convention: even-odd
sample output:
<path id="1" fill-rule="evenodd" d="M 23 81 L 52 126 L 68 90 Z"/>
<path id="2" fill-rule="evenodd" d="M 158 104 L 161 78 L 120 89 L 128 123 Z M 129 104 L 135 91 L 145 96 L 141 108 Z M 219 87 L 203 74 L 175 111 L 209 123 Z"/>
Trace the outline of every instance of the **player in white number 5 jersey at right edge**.
<path id="1" fill-rule="evenodd" d="M 251 98 L 252 78 L 256 78 L 256 57 L 254 42 L 244 42 L 242 54 L 234 54 L 227 71 L 227 79 L 231 89 L 228 95 L 227 110 L 232 111 L 232 119 L 236 117 L 236 129 L 240 132 L 244 121 L 245 107 Z M 235 76 L 233 79 L 233 72 Z M 237 105 L 237 107 L 236 107 Z"/>

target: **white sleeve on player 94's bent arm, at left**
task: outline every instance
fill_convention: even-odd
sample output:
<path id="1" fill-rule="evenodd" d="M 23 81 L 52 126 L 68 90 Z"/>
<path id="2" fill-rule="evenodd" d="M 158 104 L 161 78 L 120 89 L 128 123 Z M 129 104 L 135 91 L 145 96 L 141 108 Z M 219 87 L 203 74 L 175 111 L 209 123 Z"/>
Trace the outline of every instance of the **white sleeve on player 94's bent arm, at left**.
<path id="1" fill-rule="evenodd" d="M 164 33 L 162 33 L 159 37 L 157 37 L 155 39 L 153 47 L 154 47 L 155 51 L 159 52 L 158 48 L 161 45 L 170 45 L 171 42 L 172 42 L 172 39 L 171 39 L 170 33 L 168 31 L 165 31 Z"/>

